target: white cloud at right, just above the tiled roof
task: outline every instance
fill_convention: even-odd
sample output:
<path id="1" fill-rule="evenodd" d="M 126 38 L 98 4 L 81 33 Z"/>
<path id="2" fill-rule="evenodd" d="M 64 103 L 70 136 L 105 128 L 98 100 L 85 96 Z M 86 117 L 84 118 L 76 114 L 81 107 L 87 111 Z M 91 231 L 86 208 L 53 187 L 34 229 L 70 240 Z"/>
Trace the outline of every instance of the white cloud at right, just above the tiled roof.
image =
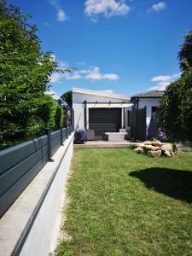
<path id="1" fill-rule="evenodd" d="M 173 73 L 172 75 L 160 75 L 151 79 L 151 82 L 158 82 L 149 90 L 166 90 L 166 86 L 180 77 L 181 73 Z"/>

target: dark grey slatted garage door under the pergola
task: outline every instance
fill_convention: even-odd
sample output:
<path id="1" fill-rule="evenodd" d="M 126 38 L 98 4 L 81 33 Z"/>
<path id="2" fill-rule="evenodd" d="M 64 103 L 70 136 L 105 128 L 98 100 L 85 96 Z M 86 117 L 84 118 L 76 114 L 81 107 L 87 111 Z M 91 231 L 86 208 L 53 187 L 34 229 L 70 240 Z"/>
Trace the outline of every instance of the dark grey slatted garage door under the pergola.
<path id="1" fill-rule="evenodd" d="M 119 131 L 121 108 L 89 108 L 89 128 L 95 130 L 96 137 L 106 131 Z"/>

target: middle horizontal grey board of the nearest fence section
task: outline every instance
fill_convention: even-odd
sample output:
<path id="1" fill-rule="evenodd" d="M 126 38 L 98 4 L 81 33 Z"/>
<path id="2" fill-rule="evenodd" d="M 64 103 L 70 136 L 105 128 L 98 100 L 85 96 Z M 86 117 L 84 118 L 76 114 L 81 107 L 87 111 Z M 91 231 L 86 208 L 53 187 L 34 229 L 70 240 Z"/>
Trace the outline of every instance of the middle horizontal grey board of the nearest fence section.
<path id="1" fill-rule="evenodd" d="M 44 159 L 44 155 L 47 154 L 48 146 L 39 149 L 34 154 L 21 161 L 18 165 L 13 166 L 9 171 L 4 172 L 0 176 L 0 195 L 9 189 L 20 177 L 28 172 L 33 166 L 35 166 L 39 160 Z"/>

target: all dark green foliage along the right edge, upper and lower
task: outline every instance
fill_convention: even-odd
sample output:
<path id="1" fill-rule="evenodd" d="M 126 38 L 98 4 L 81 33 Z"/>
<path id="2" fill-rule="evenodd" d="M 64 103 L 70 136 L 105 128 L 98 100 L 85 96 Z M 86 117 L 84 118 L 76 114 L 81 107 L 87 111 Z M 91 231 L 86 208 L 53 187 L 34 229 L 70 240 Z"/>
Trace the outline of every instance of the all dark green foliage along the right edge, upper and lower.
<path id="1" fill-rule="evenodd" d="M 192 32 L 185 35 L 178 57 L 183 73 L 166 87 L 160 101 L 158 121 L 173 141 L 192 143 Z"/>

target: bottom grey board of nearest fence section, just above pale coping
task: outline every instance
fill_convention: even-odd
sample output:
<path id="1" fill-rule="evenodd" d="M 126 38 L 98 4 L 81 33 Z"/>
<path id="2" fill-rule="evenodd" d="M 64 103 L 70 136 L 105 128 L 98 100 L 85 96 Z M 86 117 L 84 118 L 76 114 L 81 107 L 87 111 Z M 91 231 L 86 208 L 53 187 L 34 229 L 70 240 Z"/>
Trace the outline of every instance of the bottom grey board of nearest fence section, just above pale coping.
<path id="1" fill-rule="evenodd" d="M 38 174 L 47 162 L 47 155 L 44 156 L 43 160 L 39 160 L 38 163 L 32 167 L 29 172 L 26 172 L 6 193 L 0 197 L 0 218 L 6 212 L 9 207 L 13 204 L 20 193 L 26 189 L 28 183 Z"/>

